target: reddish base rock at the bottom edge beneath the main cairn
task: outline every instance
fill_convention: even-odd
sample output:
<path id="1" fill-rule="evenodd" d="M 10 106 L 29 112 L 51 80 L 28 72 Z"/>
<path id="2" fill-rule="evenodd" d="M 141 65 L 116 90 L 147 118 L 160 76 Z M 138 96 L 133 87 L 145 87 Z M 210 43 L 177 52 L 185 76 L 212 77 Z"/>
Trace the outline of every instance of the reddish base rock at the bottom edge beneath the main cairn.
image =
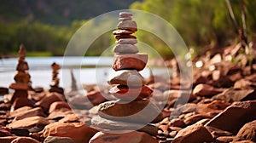
<path id="1" fill-rule="evenodd" d="M 158 140 L 155 140 L 150 135 L 133 131 L 130 133 L 124 134 L 107 134 L 98 132 L 96 133 L 89 141 L 89 143 L 158 143 Z"/>

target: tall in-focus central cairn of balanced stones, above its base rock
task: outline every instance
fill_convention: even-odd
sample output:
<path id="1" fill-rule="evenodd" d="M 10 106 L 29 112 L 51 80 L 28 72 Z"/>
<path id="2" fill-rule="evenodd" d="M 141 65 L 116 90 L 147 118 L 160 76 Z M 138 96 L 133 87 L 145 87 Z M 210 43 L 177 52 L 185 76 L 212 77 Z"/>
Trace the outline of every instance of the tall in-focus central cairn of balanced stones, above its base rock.
<path id="1" fill-rule="evenodd" d="M 148 123 L 159 122 L 162 114 L 158 106 L 148 100 L 153 89 L 144 85 L 143 76 L 139 73 L 147 65 L 148 54 L 138 53 L 135 46 L 137 37 L 131 35 L 137 31 L 137 23 L 131 20 L 131 16 L 131 13 L 119 13 L 118 30 L 113 31 L 117 40 L 117 45 L 113 48 L 115 54 L 112 67 L 115 72 L 109 76 L 108 83 L 113 86 L 109 93 L 119 100 L 100 104 L 99 116 L 93 117 L 91 123 L 98 129 L 139 129 L 154 135 L 157 129 Z M 151 120 L 150 117 L 154 118 Z"/>

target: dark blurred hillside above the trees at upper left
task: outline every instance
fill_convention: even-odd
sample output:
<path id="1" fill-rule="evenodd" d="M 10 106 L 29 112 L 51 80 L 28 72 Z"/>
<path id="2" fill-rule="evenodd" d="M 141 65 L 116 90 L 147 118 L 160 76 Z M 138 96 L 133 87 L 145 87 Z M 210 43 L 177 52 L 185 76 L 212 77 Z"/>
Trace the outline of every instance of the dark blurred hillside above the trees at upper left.
<path id="1" fill-rule="evenodd" d="M 118 9 L 136 0 L 2 0 L 0 20 L 16 22 L 26 17 L 51 25 L 70 25 Z M 142 1 L 142 0 L 140 0 Z"/>

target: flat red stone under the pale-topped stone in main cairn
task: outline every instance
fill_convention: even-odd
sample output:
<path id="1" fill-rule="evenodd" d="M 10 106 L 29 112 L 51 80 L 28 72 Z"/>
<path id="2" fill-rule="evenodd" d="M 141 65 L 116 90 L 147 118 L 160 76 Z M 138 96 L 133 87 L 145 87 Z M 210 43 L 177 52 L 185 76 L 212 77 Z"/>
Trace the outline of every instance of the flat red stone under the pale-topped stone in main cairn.
<path id="1" fill-rule="evenodd" d="M 109 90 L 109 93 L 121 100 L 143 100 L 144 98 L 150 97 L 153 93 L 153 89 L 150 89 L 145 85 L 139 88 L 129 88 L 125 85 L 116 85 Z"/>

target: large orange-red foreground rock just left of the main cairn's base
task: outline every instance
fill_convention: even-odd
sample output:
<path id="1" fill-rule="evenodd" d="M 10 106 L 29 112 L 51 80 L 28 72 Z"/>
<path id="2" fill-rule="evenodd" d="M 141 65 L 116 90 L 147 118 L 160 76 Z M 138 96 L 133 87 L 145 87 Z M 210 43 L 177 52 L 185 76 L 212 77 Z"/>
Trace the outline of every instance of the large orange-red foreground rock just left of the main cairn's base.
<path id="1" fill-rule="evenodd" d="M 89 142 L 96 134 L 96 129 L 91 129 L 84 123 L 50 123 L 43 130 L 44 138 L 48 136 L 69 137 L 76 143 Z"/>

